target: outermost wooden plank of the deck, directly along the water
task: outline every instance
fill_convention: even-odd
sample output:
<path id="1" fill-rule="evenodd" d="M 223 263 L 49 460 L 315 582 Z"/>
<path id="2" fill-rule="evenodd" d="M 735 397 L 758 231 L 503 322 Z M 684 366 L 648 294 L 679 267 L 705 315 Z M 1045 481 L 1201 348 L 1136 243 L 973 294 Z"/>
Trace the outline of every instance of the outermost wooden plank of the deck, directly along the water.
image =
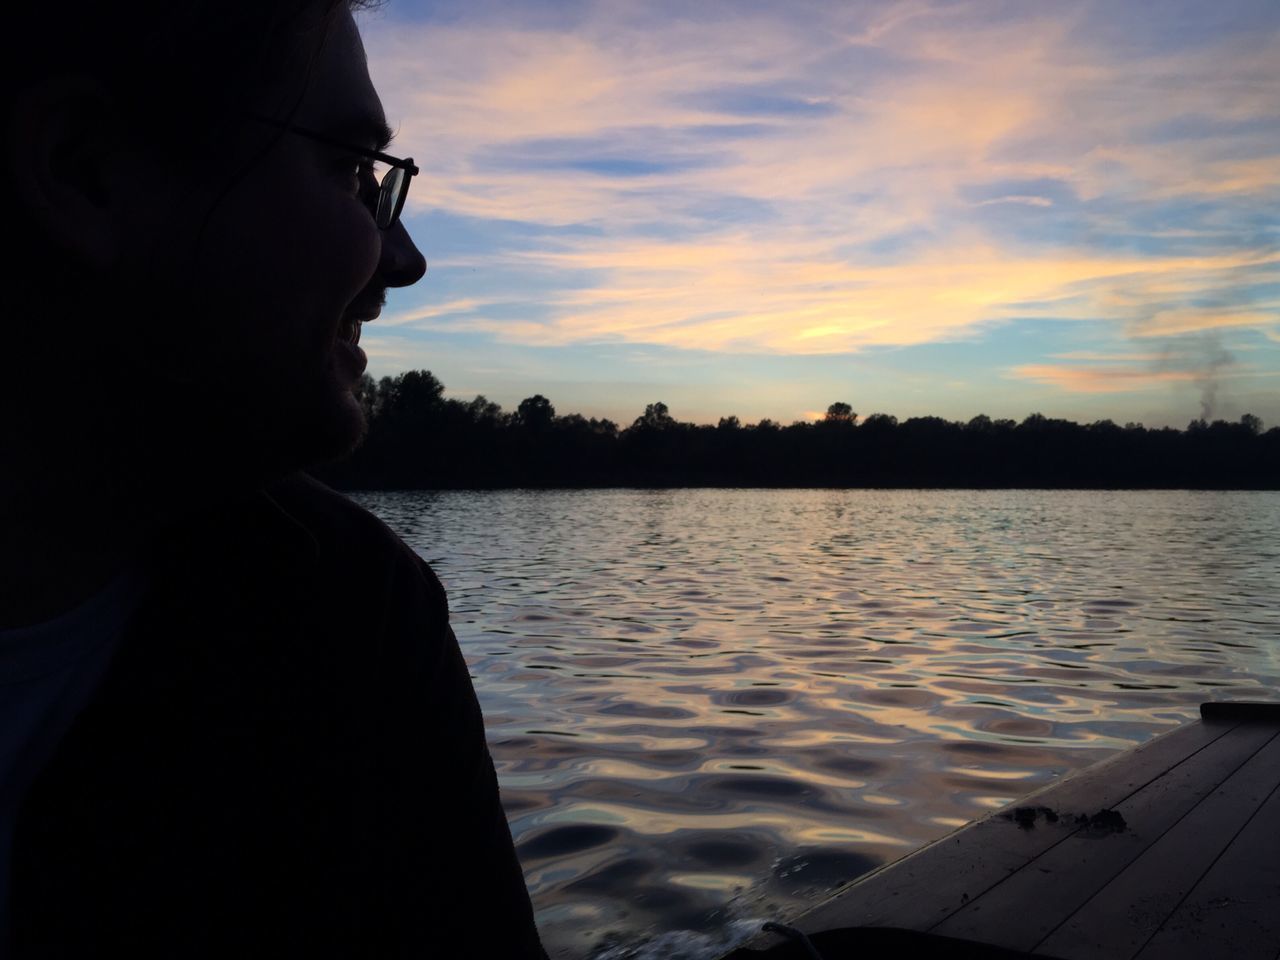
<path id="1" fill-rule="evenodd" d="M 801 915 L 795 925 L 806 933 L 861 925 L 928 929 L 1071 832 L 1061 822 L 1021 829 L 1006 819 L 1015 806 L 1091 813 L 1112 806 L 1230 730 L 1231 724 L 1189 723 L 1051 783 L 868 874 Z"/>

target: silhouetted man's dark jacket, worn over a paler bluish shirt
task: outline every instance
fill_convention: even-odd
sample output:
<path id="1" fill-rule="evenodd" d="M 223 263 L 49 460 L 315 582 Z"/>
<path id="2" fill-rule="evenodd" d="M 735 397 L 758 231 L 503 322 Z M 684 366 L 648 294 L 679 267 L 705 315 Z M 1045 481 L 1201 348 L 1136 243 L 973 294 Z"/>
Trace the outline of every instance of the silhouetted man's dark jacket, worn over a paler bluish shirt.
<path id="1" fill-rule="evenodd" d="M 148 568 L 20 808 L 14 956 L 545 956 L 416 554 L 297 476 Z"/>

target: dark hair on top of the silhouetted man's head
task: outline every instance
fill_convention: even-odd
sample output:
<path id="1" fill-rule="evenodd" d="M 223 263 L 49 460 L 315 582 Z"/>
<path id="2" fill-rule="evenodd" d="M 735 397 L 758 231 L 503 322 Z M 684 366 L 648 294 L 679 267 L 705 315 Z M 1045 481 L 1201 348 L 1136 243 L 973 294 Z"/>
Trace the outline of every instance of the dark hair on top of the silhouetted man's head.
<path id="1" fill-rule="evenodd" d="M 164 150 L 170 157 L 164 163 L 200 170 L 232 140 L 230 133 L 250 122 L 246 108 L 264 91 L 285 78 L 310 76 L 337 13 L 376 5 L 378 0 L 18 4 L 0 37 L 0 119 L 9 129 L 24 90 L 58 77 L 86 78 L 120 113 L 122 137 Z M 298 84 L 298 97 L 306 82 Z M 288 115 L 294 106 L 283 102 L 273 109 Z M 12 187 L 0 188 L 5 234 L 20 241 L 4 273 L 15 306 L 29 308 L 36 305 L 23 303 L 24 293 L 47 297 L 56 287 L 58 257 L 44 248 L 38 232 L 28 229 L 17 201 Z"/>

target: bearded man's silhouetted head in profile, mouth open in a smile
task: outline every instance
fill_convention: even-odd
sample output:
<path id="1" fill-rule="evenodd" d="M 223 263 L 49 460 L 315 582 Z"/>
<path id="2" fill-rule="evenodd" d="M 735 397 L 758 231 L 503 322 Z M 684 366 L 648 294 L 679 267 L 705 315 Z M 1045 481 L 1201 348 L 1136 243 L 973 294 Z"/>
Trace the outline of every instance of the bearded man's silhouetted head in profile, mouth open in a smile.
<path id="1" fill-rule="evenodd" d="M 29 402 L 36 430 L 77 408 L 128 419 L 189 466 L 264 477 L 358 440 L 364 362 L 344 340 L 425 262 L 403 224 L 375 224 L 362 157 L 289 128 L 381 146 L 351 6 L 9 15 L 10 412 Z"/>

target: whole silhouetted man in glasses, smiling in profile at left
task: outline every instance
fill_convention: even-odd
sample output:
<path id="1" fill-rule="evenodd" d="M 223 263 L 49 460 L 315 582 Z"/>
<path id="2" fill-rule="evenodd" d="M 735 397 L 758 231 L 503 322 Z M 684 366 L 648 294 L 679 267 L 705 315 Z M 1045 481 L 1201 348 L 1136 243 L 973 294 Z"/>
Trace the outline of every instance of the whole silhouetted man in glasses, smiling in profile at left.
<path id="1" fill-rule="evenodd" d="M 439 584 L 298 472 L 426 269 L 348 5 L 0 44 L 0 954 L 544 956 Z"/>

